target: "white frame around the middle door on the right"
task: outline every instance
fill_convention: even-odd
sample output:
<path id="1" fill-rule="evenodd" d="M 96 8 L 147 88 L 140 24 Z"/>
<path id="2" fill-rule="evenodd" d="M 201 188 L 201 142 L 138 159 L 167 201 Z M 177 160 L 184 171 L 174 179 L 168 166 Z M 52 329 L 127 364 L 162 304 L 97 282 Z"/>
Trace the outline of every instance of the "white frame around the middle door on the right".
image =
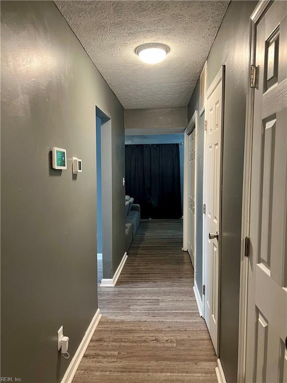
<path id="1" fill-rule="evenodd" d="M 220 275 L 221 275 L 221 238 L 222 238 L 222 229 L 221 229 L 221 222 L 222 222 L 222 166 L 223 166 L 223 127 L 224 127 L 224 97 L 225 97 L 225 65 L 222 65 L 219 69 L 218 73 L 214 77 L 212 83 L 208 87 L 208 90 L 206 92 L 205 96 L 205 106 L 207 105 L 207 97 L 209 94 L 213 92 L 213 90 L 216 88 L 218 83 L 222 81 L 222 111 L 221 111 L 221 152 L 220 152 L 220 184 L 219 184 L 219 240 L 218 240 L 218 321 L 217 321 L 217 333 L 218 333 L 218 340 L 220 339 Z M 207 110 L 205 109 L 205 116 L 207 114 Z M 204 159 L 203 159 L 203 203 L 205 203 L 205 191 L 206 191 L 206 120 L 204 121 Z M 203 219 L 202 219 L 202 286 L 206 286 L 206 280 L 205 280 L 205 213 L 202 211 Z M 203 310 L 203 318 L 205 318 L 205 295 L 202 294 L 202 310 Z M 219 355 L 219 342 L 217 346 L 216 354 Z"/>

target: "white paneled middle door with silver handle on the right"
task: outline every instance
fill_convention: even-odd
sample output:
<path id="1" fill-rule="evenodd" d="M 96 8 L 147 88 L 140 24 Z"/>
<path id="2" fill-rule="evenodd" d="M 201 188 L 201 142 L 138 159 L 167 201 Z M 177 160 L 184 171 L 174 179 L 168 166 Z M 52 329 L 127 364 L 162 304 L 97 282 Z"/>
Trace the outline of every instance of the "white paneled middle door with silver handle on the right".
<path id="1" fill-rule="evenodd" d="M 205 220 L 203 227 L 205 259 L 205 299 L 204 318 L 210 337 L 218 354 L 218 300 L 219 300 L 219 231 L 221 195 L 221 132 L 223 107 L 224 67 L 215 77 L 206 93 L 206 140 L 204 164 L 204 204 Z"/>

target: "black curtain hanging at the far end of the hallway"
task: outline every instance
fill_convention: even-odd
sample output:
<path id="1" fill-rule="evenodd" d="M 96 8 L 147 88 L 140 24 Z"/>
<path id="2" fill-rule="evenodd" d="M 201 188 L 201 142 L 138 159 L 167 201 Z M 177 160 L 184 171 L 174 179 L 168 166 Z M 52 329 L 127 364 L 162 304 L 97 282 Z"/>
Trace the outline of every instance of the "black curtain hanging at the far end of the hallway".
<path id="1" fill-rule="evenodd" d="M 126 194 L 143 218 L 180 218 L 178 144 L 126 145 Z"/>

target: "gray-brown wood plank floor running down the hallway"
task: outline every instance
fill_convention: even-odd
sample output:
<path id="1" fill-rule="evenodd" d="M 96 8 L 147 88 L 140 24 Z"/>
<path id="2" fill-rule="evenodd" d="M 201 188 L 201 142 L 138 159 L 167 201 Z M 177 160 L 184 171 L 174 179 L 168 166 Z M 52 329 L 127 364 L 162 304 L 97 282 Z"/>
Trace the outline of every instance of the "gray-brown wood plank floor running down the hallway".
<path id="1" fill-rule="evenodd" d="M 216 356 L 193 293 L 182 220 L 143 220 L 73 383 L 216 383 Z"/>

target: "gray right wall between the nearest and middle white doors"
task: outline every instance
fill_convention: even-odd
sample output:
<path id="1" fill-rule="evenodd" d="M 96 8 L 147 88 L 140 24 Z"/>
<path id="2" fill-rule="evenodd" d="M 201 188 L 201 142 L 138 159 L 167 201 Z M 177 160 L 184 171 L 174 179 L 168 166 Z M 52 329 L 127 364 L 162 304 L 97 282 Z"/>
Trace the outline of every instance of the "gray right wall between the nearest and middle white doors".
<path id="1" fill-rule="evenodd" d="M 221 65 L 226 65 L 219 353 L 228 383 L 237 381 L 249 17 L 256 4 L 257 1 L 231 1 L 207 60 L 207 86 L 211 84 Z M 194 108 L 198 107 L 198 98 L 197 88 L 189 103 L 189 118 Z"/>

